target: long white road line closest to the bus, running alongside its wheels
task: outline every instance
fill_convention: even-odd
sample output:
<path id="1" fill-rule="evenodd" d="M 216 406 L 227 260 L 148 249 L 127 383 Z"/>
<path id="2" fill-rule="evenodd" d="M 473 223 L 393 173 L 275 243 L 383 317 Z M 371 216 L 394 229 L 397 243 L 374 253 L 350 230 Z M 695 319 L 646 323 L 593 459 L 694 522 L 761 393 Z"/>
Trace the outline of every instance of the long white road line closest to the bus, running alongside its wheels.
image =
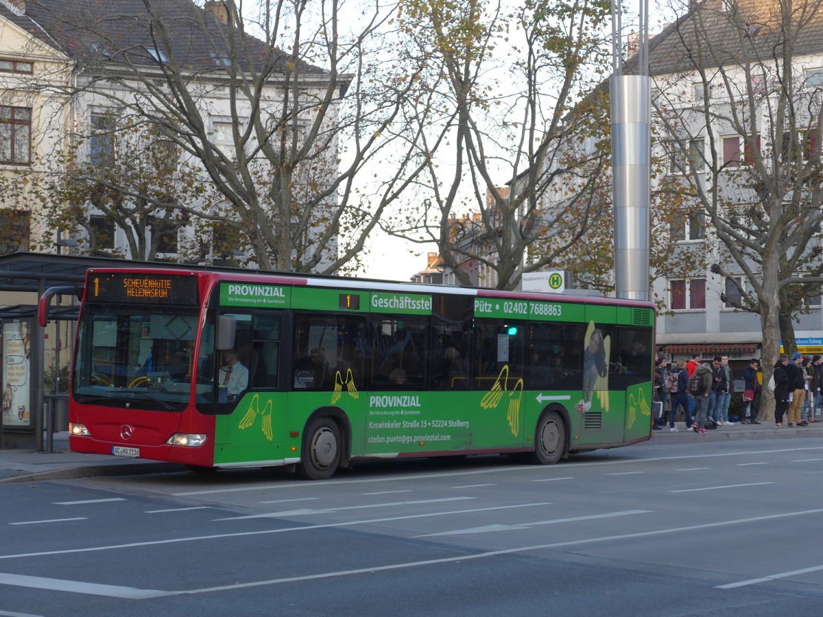
<path id="1" fill-rule="evenodd" d="M 760 450 L 760 451 L 746 451 L 746 452 L 716 452 L 714 454 L 689 454 L 681 457 L 650 457 L 650 458 L 632 458 L 622 461 L 588 461 L 588 462 L 564 462 L 562 468 L 556 467 L 556 471 L 566 471 L 569 469 L 579 469 L 580 467 L 597 467 L 603 465 L 630 465 L 636 463 L 650 463 L 660 461 L 688 461 L 699 458 L 716 458 L 716 457 L 742 457 L 761 454 L 780 454 L 782 452 L 807 452 L 813 450 L 823 450 L 823 446 L 810 446 L 808 448 L 779 448 L 774 450 Z M 495 467 L 494 469 L 478 469 L 473 471 L 453 471 L 453 472 L 439 472 L 432 474 L 421 474 L 419 476 L 385 476 L 380 478 L 364 478 L 362 480 L 324 480 L 323 487 L 337 486 L 337 485 L 355 485 L 368 484 L 376 482 L 405 482 L 408 480 L 433 480 L 437 478 L 453 478 L 457 476 L 479 476 L 481 474 L 495 474 L 508 473 L 511 471 L 536 470 L 551 473 L 551 469 L 542 467 L 534 467 L 532 465 L 511 465 L 505 467 Z M 306 482 L 285 482 L 281 485 L 253 485 L 253 486 L 239 486 L 231 489 L 208 489 L 208 490 L 190 490 L 183 493 L 171 493 L 172 497 L 190 497 L 194 495 L 209 495 L 221 493 L 240 493 L 249 490 L 280 490 L 280 489 L 305 489 L 318 488 L 318 483 L 314 481 Z"/>

